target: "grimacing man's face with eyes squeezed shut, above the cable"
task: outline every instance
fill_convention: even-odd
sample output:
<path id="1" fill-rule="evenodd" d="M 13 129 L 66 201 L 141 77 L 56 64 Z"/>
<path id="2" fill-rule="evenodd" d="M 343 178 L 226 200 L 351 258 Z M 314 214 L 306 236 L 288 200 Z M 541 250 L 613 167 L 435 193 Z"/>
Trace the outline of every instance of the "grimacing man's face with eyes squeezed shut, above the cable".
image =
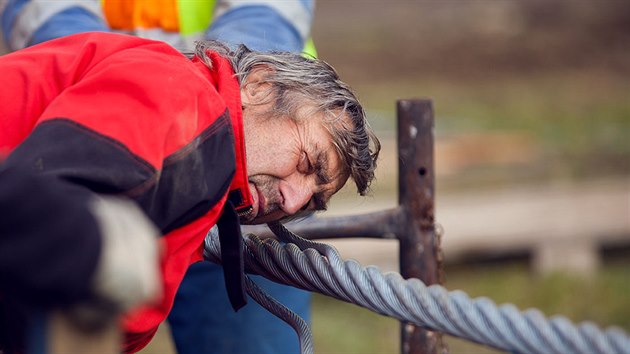
<path id="1" fill-rule="evenodd" d="M 296 121 L 266 114 L 270 107 L 254 105 L 243 111 L 249 188 L 254 199 L 251 215 L 242 220 L 245 224 L 324 210 L 348 179 L 322 116 L 304 117 L 310 111 L 304 107 L 297 114 L 302 119 Z"/>

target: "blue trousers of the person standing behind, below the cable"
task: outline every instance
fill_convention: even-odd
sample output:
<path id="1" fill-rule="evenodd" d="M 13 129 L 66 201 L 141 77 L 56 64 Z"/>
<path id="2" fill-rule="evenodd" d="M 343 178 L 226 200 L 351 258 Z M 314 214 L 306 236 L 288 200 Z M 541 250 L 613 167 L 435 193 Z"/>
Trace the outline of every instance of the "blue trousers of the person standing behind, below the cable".
<path id="1" fill-rule="evenodd" d="M 310 322 L 309 292 L 252 279 L 267 293 Z M 169 325 L 179 354 L 293 354 L 297 335 L 279 318 L 248 298 L 234 312 L 223 281 L 223 269 L 210 262 L 193 264 L 177 292 Z"/>

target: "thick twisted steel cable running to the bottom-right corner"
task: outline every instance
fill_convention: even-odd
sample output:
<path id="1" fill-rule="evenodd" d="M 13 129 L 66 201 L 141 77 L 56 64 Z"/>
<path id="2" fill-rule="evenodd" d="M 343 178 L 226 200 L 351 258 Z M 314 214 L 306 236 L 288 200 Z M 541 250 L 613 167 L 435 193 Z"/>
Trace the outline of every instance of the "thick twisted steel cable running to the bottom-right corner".
<path id="1" fill-rule="evenodd" d="M 546 318 L 536 309 L 521 312 L 511 304 L 470 299 L 462 291 L 426 286 L 395 272 L 383 274 L 375 266 L 343 261 L 334 247 L 303 239 L 279 223 L 269 227 L 287 243 L 246 235 L 248 272 L 510 352 L 630 354 L 630 338 L 620 329 L 603 331 L 590 322 L 576 326 L 561 316 Z M 218 238 L 206 239 L 206 251 L 211 260 L 220 261 Z"/>

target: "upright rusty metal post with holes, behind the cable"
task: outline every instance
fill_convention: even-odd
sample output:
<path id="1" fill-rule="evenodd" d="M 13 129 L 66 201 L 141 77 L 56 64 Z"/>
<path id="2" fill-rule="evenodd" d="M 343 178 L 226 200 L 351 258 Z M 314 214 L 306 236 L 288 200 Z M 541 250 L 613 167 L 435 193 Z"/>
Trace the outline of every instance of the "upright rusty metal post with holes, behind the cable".
<path id="1" fill-rule="evenodd" d="M 433 107 L 430 100 L 399 100 L 398 202 L 402 223 L 398 232 L 400 272 L 425 284 L 439 282 L 436 240 Z M 437 353 L 439 334 L 401 323 L 401 353 Z"/>

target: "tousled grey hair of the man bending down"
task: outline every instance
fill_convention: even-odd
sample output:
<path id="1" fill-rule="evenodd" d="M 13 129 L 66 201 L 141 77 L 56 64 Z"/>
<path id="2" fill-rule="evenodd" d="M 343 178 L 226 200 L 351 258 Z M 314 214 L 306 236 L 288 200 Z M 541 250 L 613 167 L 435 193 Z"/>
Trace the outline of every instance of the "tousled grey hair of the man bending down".
<path id="1" fill-rule="evenodd" d="M 244 45 L 231 50 L 217 41 L 198 42 L 195 55 L 209 68 L 212 61 L 207 51 L 217 52 L 226 58 L 243 85 L 256 67 L 270 68 L 265 81 L 271 84 L 274 111 L 296 117 L 304 100 L 315 106 L 316 112 L 329 117 L 327 129 L 333 137 L 337 152 L 361 195 L 367 194 L 374 179 L 380 142 L 368 124 L 365 111 L 350 87 L 339 79 L 335 69 L 314 58 L 288 52 L 262 53 Z M 302 99 L 300 99 L 302 98 Z M 347 115 L 352 127 L 340 119 Z"/>

